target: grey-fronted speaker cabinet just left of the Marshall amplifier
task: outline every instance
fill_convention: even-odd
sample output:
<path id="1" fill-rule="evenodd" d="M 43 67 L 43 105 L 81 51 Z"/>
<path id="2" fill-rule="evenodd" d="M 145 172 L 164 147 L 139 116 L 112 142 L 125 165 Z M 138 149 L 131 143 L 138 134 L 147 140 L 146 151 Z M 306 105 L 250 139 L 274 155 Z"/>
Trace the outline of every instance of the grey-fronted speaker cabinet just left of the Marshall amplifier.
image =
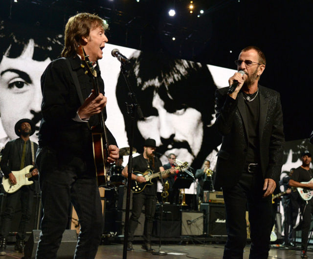
<path id="1" fill-rule="evenodd" d="M 181 235 L 182 236 L 203 235 L 203 213 L 182 212 L 181 213 Z"/>

